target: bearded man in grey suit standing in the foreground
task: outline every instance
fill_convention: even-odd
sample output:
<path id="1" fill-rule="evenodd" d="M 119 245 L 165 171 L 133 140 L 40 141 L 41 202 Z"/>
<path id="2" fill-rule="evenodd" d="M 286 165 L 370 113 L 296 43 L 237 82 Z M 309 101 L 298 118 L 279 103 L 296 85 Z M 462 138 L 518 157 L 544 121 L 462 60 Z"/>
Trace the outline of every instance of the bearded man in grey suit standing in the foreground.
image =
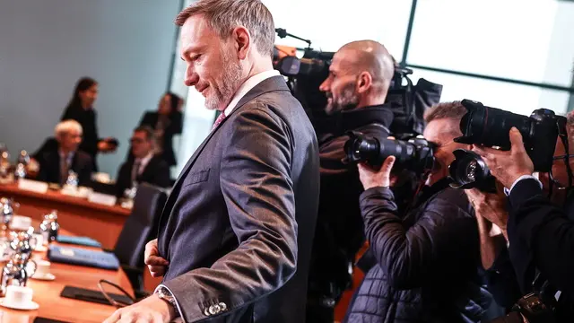
<path id="1" fill-rule="evenodd" d="M 106 322 L 304 322 L 318 148 L 273 70 L 273 17 L 258 0 L 199 0 L 176 23 L 186 84 L 223 113 L 146 246 L 163 283 Z"/>

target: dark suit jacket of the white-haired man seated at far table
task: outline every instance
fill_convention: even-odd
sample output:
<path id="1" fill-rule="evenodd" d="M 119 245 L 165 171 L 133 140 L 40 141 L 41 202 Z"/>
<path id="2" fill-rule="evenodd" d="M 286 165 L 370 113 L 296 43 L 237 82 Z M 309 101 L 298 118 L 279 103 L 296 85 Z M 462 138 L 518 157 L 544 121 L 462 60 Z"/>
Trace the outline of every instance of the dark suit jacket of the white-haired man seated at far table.
<path id="1" fill-rule="evenodd" d="M 34 159 L 39 163 L 39 173 L 36 179 L 48 183 L 60 184 L 60 154 L 57 144 L 49 144 L 49 139 L 42 145 L 43 148 L 34 154 Z M 71 169 L 78 174 L 78 182 L 81 186 L 90 186 L 93 162 L 88 153 L 77 151 L 72 159 Z"/>

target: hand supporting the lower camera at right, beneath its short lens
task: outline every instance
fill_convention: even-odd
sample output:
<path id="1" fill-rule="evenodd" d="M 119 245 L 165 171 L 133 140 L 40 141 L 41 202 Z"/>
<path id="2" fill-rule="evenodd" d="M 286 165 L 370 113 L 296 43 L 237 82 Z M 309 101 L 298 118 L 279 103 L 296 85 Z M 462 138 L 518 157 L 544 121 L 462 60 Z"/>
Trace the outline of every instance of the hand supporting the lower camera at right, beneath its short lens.
<path id="1" fill-rule="evenodd" d="M 506 238 L 506 226 L 509 222 L 509 212 L 506 208 L 506 196 L 501 194 L 484 193 L 478 188 L 465 189 L 468 200 L 474 207 L 476 217 L 482 217 L 496 224 Z M 481 220 L 480 218 L 477 220 Z"/>

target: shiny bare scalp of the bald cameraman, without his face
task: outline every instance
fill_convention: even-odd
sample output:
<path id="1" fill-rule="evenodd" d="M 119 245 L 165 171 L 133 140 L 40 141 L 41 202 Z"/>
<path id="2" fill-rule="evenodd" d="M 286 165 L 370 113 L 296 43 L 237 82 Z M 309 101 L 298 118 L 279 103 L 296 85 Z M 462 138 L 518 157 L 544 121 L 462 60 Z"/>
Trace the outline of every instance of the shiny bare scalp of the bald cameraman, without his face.
<path id="1" fill-rule="evenodd" d="M 352 41 L 340 48 L 335 57 L 354 72 L 369 72 L 376 83 L 389 84 L 395 74 L 395 63 L 387 48 L 374 40 Z"/>

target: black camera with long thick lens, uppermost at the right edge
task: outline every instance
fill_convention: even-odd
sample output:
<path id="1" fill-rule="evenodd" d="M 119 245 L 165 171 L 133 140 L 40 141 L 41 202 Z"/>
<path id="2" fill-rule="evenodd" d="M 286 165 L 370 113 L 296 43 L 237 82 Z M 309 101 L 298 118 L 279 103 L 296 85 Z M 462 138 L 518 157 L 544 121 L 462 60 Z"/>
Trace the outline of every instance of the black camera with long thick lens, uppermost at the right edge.
<path id="1" fill-rule="evenodd" d="M 474 100 L 462 100 L 468 110 L 460 121 L 463 135 L 455 138 L 460 144 L 482 144 L 510 149 L 509 131 L 516 127 L 523 137 L 526 153 L 536 171 L 552 169 L 556 139 L 565 127 L 566 118 L 556 116 L 550 109 L 535 109 L 530 117 L 484 106 Z"/>

